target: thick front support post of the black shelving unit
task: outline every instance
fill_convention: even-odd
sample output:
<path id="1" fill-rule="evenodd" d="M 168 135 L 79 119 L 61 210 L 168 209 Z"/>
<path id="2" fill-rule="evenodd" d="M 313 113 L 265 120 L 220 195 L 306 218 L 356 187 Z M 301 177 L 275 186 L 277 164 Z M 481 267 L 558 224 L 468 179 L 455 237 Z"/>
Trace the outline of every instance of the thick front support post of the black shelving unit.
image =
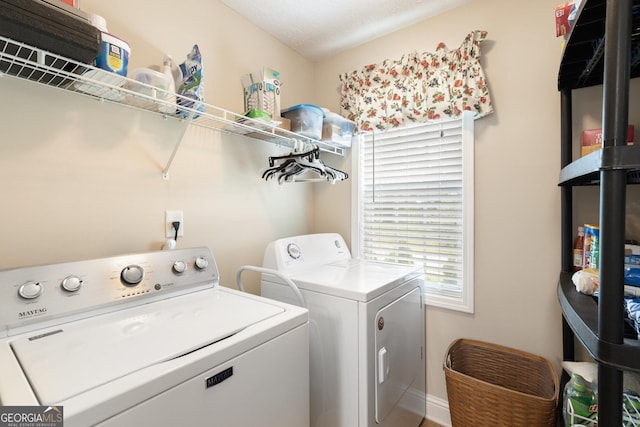
<path id="1" fill-rule="evenodd" d="M 603 150 L 626 145 L 629 116 L 632 0 L 608 0 L 605 21 Z M 600 171 L 600 298 L 598 336 L 624 342 L 624 240 L 627 171 Z M 622 207 L 622 208 L 621 208 Z M 598 365 L 598 417 L 602 425 L 622 425 L 622 371 Z"/>

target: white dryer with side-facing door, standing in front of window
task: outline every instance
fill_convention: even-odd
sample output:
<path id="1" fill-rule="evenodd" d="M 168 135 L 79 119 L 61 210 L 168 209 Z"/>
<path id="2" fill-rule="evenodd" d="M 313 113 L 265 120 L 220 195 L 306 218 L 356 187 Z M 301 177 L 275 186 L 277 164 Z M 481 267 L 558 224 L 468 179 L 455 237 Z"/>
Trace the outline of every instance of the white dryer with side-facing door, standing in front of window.
<path id="1" fill-rule="evenodd" d="M 426 414 L 423 274 L 352 259 L 339 234 L 270 243 L 261 293 L 309 309 L 311 426 L 417 427 Z M 284 277 L 279 277 L 284 276 Z"/>

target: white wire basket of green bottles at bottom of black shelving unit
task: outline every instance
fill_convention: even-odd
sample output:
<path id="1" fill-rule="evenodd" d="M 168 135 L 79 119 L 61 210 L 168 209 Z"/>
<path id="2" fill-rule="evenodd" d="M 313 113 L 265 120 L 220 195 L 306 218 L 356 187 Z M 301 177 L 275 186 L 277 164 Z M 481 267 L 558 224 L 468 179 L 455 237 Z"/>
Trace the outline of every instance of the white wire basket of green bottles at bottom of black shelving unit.
<path id="1" fill-rule="evenodd" d="M 567 427 L 598 426 L 598 370 L 595 363 L 562 362 L 562 367 L 571 379 L 564 388 L 562 409 L 564 425 Z M 622 395 L 623 426 L 640 426 L 640 395 L 631 387 L 638 388 L 633 374 L 625 377 Z"/>

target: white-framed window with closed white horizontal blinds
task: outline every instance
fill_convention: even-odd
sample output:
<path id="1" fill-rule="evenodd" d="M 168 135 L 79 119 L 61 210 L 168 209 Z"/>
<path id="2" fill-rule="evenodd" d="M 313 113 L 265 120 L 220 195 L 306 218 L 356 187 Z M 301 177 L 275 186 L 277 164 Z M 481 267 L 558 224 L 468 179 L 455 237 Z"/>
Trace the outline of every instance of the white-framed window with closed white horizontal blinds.
<path id="1" fill-rule="evenodd" d="M 473 312 L 473 116 L 364 135 L 356 253 L 424 268 L 428 304 Z"/>

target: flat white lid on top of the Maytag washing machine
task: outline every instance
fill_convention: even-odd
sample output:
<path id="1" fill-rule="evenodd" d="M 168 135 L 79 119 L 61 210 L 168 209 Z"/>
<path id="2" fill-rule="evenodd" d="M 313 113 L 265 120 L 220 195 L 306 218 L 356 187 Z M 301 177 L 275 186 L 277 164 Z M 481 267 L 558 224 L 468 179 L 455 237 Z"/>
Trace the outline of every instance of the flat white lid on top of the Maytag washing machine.
<path id="1" fill-rule="evenodd" d="M 210 288 L 31 332 L 11 347 L 40 403 L 57 404 L 284 311 Z"/>

